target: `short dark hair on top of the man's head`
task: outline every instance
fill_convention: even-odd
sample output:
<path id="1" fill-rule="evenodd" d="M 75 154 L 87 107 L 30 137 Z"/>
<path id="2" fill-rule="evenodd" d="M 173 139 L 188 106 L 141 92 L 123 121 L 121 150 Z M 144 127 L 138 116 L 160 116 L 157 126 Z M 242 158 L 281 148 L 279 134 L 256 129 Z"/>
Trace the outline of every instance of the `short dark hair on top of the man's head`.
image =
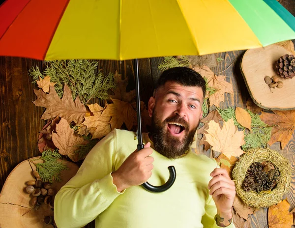
<path id="1" fill-rule="evenodd" d="M 157 90 L 160 86 L 165 85 L 165 83 L 168 81 L 176 82 L 179 85 L 184 86 L 200 87 L 203 90 L 203 99 L 205 98 L 206 82 L 204 78 L 193 69 L 187 67 L 174 67 L 165 70 L 158 79 L 155 89 Z"/>

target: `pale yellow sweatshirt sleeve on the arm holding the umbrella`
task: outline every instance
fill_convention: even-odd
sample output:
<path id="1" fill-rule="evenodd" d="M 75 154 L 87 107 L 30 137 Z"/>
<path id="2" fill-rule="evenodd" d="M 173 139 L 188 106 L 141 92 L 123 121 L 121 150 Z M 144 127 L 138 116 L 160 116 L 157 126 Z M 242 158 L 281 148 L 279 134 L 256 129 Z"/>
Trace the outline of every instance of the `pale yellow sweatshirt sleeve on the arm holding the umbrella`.
<path id="1" fill-rule="evenodd" d="M 57 193 L 54 219 L 58 228 L 80 228 L 94 220 L 120 194 L 113 184 L 116 131 L 98 142 L 77 174 Z"/>

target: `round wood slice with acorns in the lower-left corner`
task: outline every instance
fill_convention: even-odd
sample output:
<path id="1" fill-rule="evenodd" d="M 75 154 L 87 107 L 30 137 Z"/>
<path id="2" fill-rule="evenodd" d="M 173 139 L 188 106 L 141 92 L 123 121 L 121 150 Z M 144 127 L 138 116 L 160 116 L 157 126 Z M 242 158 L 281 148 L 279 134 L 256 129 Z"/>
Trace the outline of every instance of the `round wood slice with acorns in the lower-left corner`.
<path id="1" fill-rule="evenodd" d="M 34 163 L 42 163 L 40 157 L 30 158 Z M 59 189 L 71 179 L 79 167 L 68 161 L 59 160 L 66 164 L 69 170 L 61 171 L 61 182 L 55 182 L 53 189 Z M 31 168 L 32 167 L 32 168 Z M 43 221 L 45 216 L 53 216 L 53 211 L 48 205 L 42 203 L 38 210 L 32 209 L 29 205 L 30 196 L 25 192 L 26 182 L 35 180 L 32 169 L 36 167 L 25 160 L 17 165 L 7 177 L 0 193 L 0 227 L 1 228 L 52 228 L 51 224 L 46 225 Z"/>

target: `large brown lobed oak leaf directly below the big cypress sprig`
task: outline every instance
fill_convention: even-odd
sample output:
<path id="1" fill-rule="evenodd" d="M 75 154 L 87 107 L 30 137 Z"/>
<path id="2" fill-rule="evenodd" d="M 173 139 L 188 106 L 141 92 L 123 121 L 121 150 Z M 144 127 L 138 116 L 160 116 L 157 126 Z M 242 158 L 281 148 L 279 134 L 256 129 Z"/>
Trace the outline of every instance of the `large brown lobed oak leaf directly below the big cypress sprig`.
<path id="1" fill-rule="evenodd" d="M 82 123 L 87 113 L 85 105 L 79 97 L 73 101 L 72 92 L 67 85 L 64 85 L 63 96 L 60 99 L 53 86 L 50 86 L 49 93 L 44 93 L 41 89 L 34 89 L 37 99 L 33 102 L 35 106 L 46 108 L 41 119 L 50 119 L 60 116 L 71 123 Z"/>

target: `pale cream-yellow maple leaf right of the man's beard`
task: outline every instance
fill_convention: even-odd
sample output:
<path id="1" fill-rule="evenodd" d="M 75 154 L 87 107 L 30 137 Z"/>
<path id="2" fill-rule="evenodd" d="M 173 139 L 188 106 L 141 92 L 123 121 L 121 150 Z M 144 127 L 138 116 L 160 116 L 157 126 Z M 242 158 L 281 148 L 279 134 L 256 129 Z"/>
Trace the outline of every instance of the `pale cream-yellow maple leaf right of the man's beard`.
<path id="1" fill-rule="evenodd" d="M 205 135 L 206 141 L 212 146 L 212 150 L 223 153 L 229 159 L 232 156 L 239 157 L 244 153 L 240 148 L 245 143 L 244 132 L 237 131 L 233 119 L 224 122 L 222 129 L 214 120 L 211 120 L 208 126 Z"/>

